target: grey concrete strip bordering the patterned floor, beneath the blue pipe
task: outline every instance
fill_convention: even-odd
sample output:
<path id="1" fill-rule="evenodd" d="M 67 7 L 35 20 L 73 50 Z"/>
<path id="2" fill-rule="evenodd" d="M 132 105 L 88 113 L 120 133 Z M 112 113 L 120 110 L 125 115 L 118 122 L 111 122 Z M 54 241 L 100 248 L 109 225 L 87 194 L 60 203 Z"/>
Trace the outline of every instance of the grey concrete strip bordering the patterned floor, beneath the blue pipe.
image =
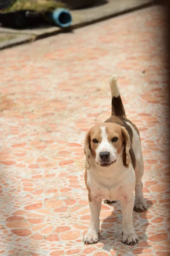
<path id="1" fill-rule="evenodd" d="M 32 29 L 9 29 L 0 27 L 0 49 L 13 47 L 56 35 L 68 30 L 73 30 L 88 24 L 108 19 L 125 12 L 144 8 L 153 4 L 153 0 L 101 0 L 98 6 L 91 6 L 88 9 L 72 10 L 73 22 L 69 28 L 62 29 L 57 26 L 40 26 Z M 8 38 L 10 37 L 10 39 Z"/>

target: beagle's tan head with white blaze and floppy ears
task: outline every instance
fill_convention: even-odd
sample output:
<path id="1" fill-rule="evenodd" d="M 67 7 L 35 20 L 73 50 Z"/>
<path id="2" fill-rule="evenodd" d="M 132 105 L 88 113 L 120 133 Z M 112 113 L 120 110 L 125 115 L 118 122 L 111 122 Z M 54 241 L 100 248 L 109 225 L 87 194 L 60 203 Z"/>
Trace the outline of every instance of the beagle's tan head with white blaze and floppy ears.
<path id="1" fill-rule="evenodd" d="M 126 129 L 111 122 L 93 126 L 85 137 L 85 169 L 91 168 L 93 160 L 103 168 L 116 163 L 123 146 L 125 146 L 125 161 L 129 164 L 130 137 Z"/>

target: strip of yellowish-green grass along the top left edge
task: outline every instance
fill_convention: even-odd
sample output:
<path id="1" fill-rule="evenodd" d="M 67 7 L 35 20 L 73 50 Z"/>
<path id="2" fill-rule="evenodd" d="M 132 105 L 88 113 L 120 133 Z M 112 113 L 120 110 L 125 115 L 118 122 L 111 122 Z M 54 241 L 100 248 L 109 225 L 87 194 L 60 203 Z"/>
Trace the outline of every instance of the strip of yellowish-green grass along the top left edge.
<path id="1" fill-rule="evenodd" d="M 35 10 L 38 12 L 52 11 L 59 7 L 66 7 L 65 4 L 56 0 L 14 0 L 14 2 L 3 12 L 19 10 Z"/>

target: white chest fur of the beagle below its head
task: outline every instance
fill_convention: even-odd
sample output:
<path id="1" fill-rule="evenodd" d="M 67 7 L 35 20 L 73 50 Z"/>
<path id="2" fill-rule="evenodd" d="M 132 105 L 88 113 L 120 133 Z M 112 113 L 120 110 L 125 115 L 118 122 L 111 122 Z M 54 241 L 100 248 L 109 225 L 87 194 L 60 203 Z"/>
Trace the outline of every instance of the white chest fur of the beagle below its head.
<path id="1" fill-rule="evenodd" d="M 135 187 L 135 172 L 131 164 L 129 168 L 122 163 L 109 168 L 92 165 L 87 176 L 92 198 L 118 200 L 131 193 Z"/>

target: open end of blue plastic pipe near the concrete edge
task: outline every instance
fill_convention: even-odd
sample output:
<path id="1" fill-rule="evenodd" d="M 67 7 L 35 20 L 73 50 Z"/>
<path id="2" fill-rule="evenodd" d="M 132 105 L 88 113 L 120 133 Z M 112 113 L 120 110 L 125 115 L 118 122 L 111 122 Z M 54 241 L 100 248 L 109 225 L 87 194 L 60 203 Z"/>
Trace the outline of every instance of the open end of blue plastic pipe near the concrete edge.
<path id="1" fill-rule="evenodd" d="M 53 23 L 62 28 L 70 26 L 72 22 L 70 12 L 64 8 L 58 8 L 53 12 L 48 12 L 47 16 Z"/>

